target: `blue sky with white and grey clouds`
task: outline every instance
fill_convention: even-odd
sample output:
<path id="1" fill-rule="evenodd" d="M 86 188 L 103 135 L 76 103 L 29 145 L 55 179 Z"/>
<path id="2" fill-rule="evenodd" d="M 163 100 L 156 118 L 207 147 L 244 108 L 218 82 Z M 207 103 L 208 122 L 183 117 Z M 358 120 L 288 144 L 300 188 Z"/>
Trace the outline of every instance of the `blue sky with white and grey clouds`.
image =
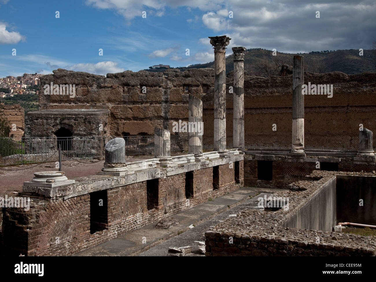
<path id="1" fill-rule="evenodd" d="M 0 77 L 206 63 L 217 35 L 232 38 L 226 55 L 366 50 L 375 16 L 375 0 L 0 0 Z"/>

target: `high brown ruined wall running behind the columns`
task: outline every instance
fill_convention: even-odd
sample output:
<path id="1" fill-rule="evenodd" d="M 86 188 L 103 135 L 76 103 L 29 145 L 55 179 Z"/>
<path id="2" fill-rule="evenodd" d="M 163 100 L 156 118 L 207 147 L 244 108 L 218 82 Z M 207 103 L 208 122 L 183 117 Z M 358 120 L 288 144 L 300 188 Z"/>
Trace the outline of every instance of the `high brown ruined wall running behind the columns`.
<path id="1" fill-rule="evenodd" d="M 232 147 L 232 107 L 233 97 L 229 86 L 233 85 L 233 73 L 227 74 L 226 81 L 226 124 L 227 147 Z M 56 110 L 62 112 L 86 110 L 108 110 L 102 115 L 106 123 L 105 135 L 121 136 L 153 135 L 154 127 L 169 129 L 172 133 L 173 122 L 188 121 L 188 94 L 203 100 L 204 148 L 212 148 L 213 140 L 213 97 L 214 70 L 211 68 L 190 69 L 180 72 L 170 69 L 163 73 L 147 71 L 124 71 L 123 73 L 98 76 L 83 72 L 66 70 L 54 71 L 41 78 L 41 85 L 75 84 L 76 97 L 39 94 L 39 110 L 49 112 L 28 113 L 26 133 L 28 136 L 51 136 L 51 130 L 45 127 L 57 127 Z M 326 74 L 305 73 L 305 83 L 333 84 L 332 98 L 324 95 L 305 96 L 305 144 L 314 148 L 323 146 L 323 140 L 329 146 L 340 147 L 343 142 L 355 150 L 358 146 L 359 124 L 372 131 L 376 130 L 373 112 L 376 110 L 376 74 L 362 73 L 347 75 L 341 72 Z M 146 86 L 146 94 L 142 87 Z M 188 87 L 188 91 L 186 91 Z M 292 76 L 269 78 L 251 77 L 244 79 L 244 108 L 246 147 L 255 143 L 273 143 L 291 145 L 291 106 Z M 67 115 L 65 114 L 65 115 Z M 61 114 L 63 115 L 63 114 Z M 78 115 L 79 114 L 76 114 Z M 41 121 L 44 118 L 45 121 Z M 73 118 L 74 119 L 74 118 Z M 78 122 L 77 122 L 78 121 Z M 93 120 L 93 123 L 100 122 Z M 32 124 L 40 123 L 32 129 Z M 84 134 L 81 127 L 87 126 L 81 117 L 76 125 L 68 124 L 76 136 Z M 272 130 L 272 124 L 277 131 Z M 49 124 L 49 125 L 48 125 Z M 97 124 L 92 125 L 93 128 Z M 321 133 L 320 133 L 321 132 Z M 43 133 L 43 134 L 41 134 Z M 174 133 L 173 133 L 174 134 Z M 87 135 L 86 135 L 87 136 Z M 248 142 L 247 142 L 248 139 Z M 345 140 L 346 139 L 346 140 Z M 345 141 L 344 141 L 345 140 Z M 283 148 L 286 149 L 286 148 Z"/>

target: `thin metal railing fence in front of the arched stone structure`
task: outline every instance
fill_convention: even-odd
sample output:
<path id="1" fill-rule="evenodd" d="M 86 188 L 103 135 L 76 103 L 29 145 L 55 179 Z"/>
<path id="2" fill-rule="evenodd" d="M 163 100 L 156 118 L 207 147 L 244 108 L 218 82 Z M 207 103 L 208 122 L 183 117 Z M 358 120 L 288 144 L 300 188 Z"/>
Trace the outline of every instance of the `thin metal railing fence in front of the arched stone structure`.
<path id="1" fill-rule="evenodd" d="M 108 141 L 118 136 L 23 137 L 0 138 L 0 165 L 58 161 L 58 144 L 62 160 L 104 159 Z M 120 136 L 127 156 L 154 155 L 154 136 Z M 171 135 L 171 153 L 188 152 L 188 135 Z"/>

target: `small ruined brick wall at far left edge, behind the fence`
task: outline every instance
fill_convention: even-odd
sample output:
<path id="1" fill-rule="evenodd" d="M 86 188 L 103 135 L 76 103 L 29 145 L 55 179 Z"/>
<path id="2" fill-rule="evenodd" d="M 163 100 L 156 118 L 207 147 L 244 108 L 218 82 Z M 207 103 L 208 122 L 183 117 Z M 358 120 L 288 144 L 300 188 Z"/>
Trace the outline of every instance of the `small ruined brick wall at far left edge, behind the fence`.
<path id="1" fill-rule="evenodd" d="M 10 126 L 16 125 L 16 130 L 9 133 L 9 137 L 21 140 L 25 130 L 25 111 L 20 105 L 0 105 L 0 116 L 9 121 Z"/>

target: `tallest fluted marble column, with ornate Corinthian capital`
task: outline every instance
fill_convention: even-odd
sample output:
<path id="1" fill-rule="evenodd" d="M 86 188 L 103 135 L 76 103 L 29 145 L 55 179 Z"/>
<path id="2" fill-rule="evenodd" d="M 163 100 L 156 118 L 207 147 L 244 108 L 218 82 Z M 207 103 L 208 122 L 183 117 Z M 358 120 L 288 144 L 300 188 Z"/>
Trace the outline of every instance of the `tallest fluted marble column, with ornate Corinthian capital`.
<path id="1" fill-rule="evenodd" d="M 231 38 L 213 36 L 214 46 L 214 151 L 226 155 L 226 46 Z"/>

